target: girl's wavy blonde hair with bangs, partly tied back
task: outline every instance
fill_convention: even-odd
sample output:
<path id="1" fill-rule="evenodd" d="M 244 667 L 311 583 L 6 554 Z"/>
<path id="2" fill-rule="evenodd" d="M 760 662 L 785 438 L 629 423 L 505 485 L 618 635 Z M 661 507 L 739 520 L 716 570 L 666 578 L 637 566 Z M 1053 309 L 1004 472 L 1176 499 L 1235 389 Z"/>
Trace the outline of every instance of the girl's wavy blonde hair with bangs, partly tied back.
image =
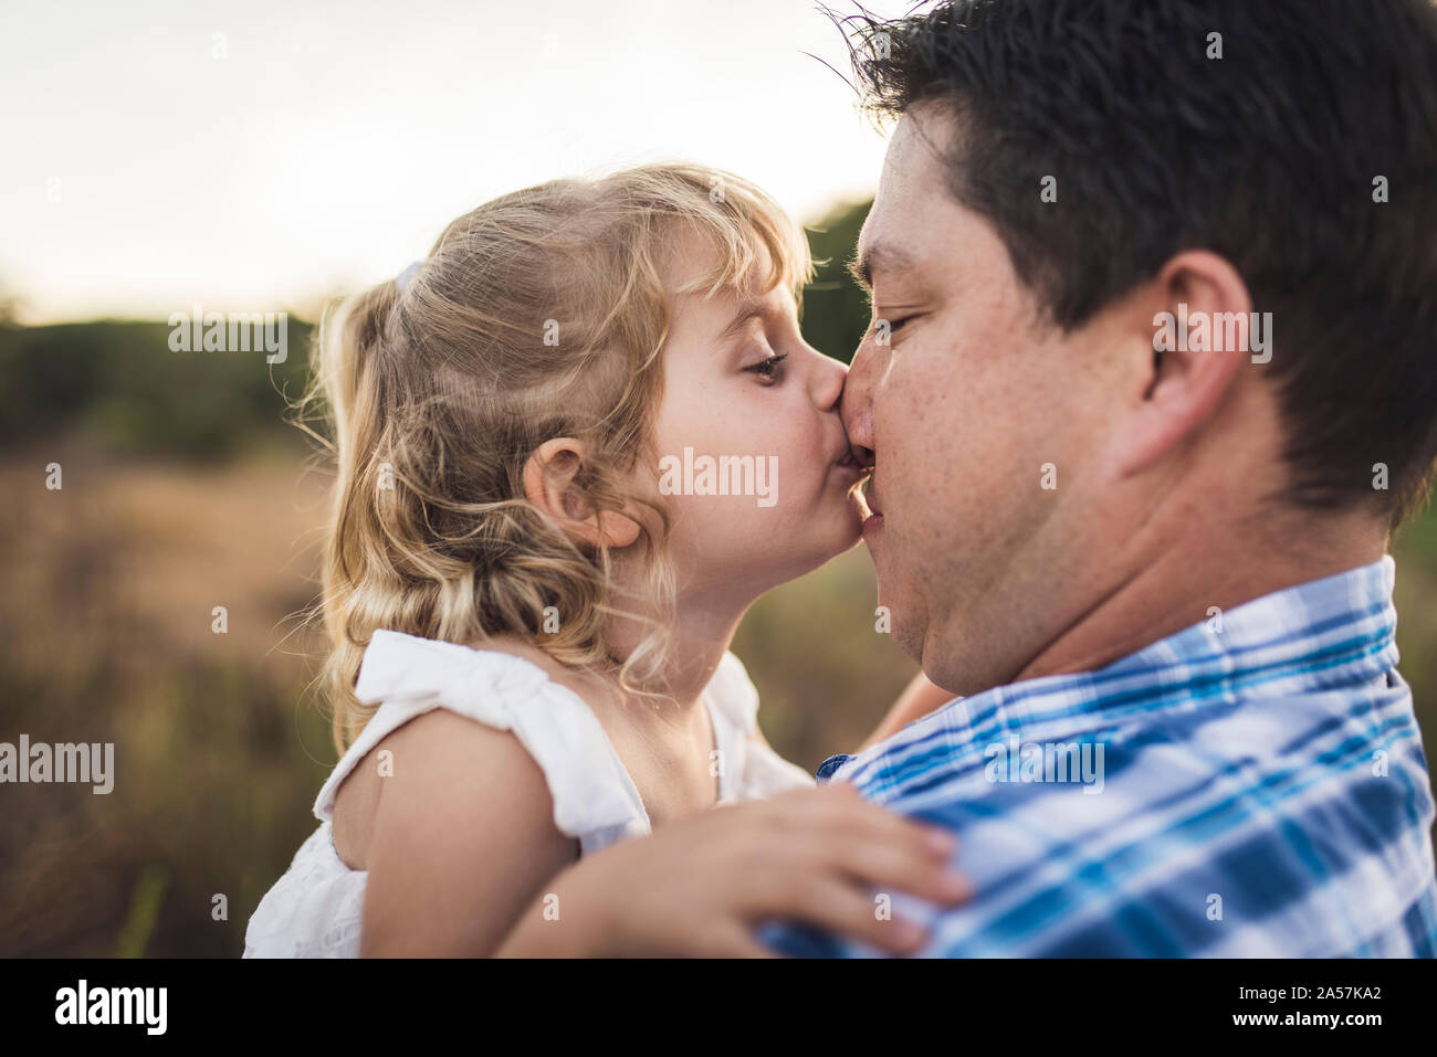
<path id="1" fill-rule="evenodd" d="M 677 289 L 671 254 L 687 234 L 714 266 Z M 328 437 L 316 435 L 336 462 L 319 616 L 341 753 L 374 714 L 354 686 L 376 629 L 466 645 L 512 633 L 651 692 L 674 596 L 662 536 L 641 537 L 654 607 L 619 663 L 611 554 L 581 550 L 532 506 L 523 468 L 543 441 L 573 437 L 586 454 L 575 485 L 595 511 L 639 501 L 622 480 L 657 464 L 671 299 L 752 283 L 762 250 L 767 289 L 798 296 L 808 243 L 763 191 L 718 169 L 645 165 L 486 202 L 444 230 L 402 290 L 388 280 L 326 307 L 300 419 L 320 409 Z"/>

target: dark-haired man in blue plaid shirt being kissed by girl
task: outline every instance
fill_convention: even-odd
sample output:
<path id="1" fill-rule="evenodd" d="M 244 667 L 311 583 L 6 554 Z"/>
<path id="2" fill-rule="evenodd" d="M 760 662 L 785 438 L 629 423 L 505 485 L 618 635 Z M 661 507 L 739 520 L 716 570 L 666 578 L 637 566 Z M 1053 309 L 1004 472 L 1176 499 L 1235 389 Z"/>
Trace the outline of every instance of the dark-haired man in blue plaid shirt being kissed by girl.
<path id="1" fill-rule="evenodd" d="M 844 418 L 879 603 L 967 697 L 819 774 L 976 886 L 895 916 L 928 955 L 1433 956 L 1387 549 L 1437 458 L 1437 13 L 859 23 L 898 124 Z"/>

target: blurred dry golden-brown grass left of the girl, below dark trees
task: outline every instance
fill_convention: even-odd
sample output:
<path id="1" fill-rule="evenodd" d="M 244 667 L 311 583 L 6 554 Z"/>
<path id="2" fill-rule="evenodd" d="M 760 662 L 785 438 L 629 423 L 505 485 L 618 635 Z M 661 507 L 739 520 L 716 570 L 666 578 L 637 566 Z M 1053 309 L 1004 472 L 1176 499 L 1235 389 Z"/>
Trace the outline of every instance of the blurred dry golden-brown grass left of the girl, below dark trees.
<path id="1" fill-rule="evenodd" d="M 115 742 L 108 796 L 6 788 L 0 954 L 239 952 L 333 763 L 290 619 L 313 593 L 322 483 L 296 480 L 75 447 L 0 467 L 0 740 Z"/>

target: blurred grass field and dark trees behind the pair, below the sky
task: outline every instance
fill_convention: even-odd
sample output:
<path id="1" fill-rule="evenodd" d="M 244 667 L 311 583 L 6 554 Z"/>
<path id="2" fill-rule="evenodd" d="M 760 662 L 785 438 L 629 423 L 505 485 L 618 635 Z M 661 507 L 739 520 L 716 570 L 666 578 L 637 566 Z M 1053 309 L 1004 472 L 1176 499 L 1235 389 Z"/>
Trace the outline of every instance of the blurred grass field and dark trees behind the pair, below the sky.
<path id="1" fill-rule="evenodd" d="M 862 325 L 836 271 L 861 218 L 815 233 L 832 263 L 805 332 L 835 353 Z M 0 788 L 0 956 L 239 955 L 335 763 L 310 691 L 316 633 L 300 622 L 328 478 L 274 392 L 295 395 L 303 356 L 277 371 L 177 358 L 165 333 L 0 325 L 0 741 L 112 741 L 116 774 L 106 796 Z M 295 327 L 292 350 L 306 333 Z M 1431 760 L 1437 514 L 1395 554 L 1401 671 Z M 809 770 L 854 750 L 917 671 L 874 630 L 875 605 L 859 547 L 740 628 L 764 732 Z"/>

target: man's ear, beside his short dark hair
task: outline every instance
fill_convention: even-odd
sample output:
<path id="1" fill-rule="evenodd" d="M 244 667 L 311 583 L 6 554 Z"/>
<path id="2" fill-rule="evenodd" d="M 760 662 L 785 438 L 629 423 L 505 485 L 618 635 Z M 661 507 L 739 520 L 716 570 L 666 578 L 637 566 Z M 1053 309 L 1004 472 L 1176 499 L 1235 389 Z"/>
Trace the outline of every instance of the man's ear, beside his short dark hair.
<path id="1" fill-rule="evenodd" d="M 1148 343 L 1132 352 L 1140 396 L 1121 434 L 1122 477 L 1147 470 L 1213 418 L 1250 362 L 1244 352 L 1250 312 L 1252 296 L 1237 269 L 1207 250 L 1174 256 L 1144 287 L 1134 302 L 1132 327 Z M 1229 317 L 1237 320 L 1236 348 L 1224 348 Z"/>

